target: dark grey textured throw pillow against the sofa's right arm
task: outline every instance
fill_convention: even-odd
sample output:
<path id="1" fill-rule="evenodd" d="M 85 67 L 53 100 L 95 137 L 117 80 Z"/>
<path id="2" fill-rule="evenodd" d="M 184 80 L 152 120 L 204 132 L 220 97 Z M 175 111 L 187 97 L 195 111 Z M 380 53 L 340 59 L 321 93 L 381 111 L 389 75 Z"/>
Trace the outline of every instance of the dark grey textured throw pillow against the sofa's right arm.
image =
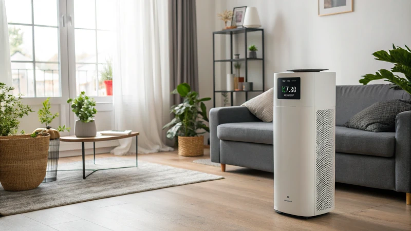
<path id="1" fill-rule="evenodd" d="M 380 101 L 355 114 L 344 126 L 373 132 L 395 131 L 397 114 L 409 110 L 411 100 Z"/>

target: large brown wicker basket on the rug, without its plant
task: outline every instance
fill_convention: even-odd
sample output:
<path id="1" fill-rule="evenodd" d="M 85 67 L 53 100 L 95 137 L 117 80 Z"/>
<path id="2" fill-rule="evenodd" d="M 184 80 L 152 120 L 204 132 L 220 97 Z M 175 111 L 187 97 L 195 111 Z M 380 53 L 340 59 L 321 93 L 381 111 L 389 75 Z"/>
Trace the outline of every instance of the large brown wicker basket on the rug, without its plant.
<path id="1" fill-rule="evenodd" d="M 0 183 L 7 191 L 36 188 L 46 175 L 50 134 L 0 137 Z"/>

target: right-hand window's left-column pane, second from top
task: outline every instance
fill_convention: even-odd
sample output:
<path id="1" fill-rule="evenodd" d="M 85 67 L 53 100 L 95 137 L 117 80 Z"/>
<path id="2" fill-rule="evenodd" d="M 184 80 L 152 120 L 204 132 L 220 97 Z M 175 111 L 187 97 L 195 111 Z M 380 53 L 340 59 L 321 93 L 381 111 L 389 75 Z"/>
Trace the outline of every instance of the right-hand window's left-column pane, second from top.
<path id="1" fill-rule="evenodd" d="M 74 30 L 76 63 L 96 63 L 96 31 Z"/>

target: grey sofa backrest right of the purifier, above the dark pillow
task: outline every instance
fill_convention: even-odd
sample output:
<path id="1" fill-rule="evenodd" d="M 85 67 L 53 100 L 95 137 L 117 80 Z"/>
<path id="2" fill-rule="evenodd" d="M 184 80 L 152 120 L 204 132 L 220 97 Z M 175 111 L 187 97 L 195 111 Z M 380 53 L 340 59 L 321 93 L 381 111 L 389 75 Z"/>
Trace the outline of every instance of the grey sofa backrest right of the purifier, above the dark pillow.
<path id="1" fill-rule="evenodd" d="M 354 114 L 383 100 L 411 99 L 402 89 L 390 84 L 340 85 L 336 89 L 335 125 L 343 126 Z"/>

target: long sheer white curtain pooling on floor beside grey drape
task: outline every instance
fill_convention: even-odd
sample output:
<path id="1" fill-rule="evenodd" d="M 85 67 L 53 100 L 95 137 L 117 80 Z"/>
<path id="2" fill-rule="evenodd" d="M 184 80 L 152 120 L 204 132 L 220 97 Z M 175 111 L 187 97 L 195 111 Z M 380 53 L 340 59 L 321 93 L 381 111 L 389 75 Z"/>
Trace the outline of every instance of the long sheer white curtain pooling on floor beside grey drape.
<path id="1" fill-rule="evenodd" d="M 115 127 L 139 131 L 138 152 L 173 150 L 162 126 L 170 121 L 167 0 L 118 0 L 113 67 Z M 135 139 L 111 151 L 135 153 Z"/>

